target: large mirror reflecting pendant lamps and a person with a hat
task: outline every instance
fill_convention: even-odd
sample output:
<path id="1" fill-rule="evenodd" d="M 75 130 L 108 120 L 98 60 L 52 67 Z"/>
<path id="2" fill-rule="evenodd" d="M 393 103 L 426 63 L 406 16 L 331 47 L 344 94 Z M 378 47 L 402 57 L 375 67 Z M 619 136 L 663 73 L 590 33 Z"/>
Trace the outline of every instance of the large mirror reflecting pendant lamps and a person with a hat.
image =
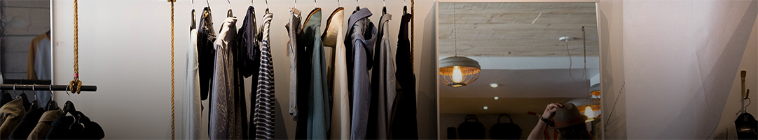
<path id="1" fill-rule="evenodd" d="M 602 138 L 595 2 L 437 8 L 440 139 L 526 139 L 550 103 L 575 105 L 589 119 L 569 126 Z M 539 131 L 562 138 L 550 126 Z"/>

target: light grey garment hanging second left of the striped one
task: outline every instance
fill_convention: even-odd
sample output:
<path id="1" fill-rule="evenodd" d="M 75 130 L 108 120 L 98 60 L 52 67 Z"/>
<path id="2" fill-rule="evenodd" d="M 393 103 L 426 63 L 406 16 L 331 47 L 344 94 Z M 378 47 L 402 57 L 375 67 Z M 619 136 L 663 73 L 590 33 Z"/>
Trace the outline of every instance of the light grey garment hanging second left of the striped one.
<path id="1" fill-rule="evenodd" d="M 242 125 L 239 107 L 235 104 L 235 83 L 233 52 L 236 47 L 236 18 L 227 17 L 221 25 L 220 39 L 215 42 L 216 59 L 211 87 L 211 130 L 209 138 L 240 139 Z"/>

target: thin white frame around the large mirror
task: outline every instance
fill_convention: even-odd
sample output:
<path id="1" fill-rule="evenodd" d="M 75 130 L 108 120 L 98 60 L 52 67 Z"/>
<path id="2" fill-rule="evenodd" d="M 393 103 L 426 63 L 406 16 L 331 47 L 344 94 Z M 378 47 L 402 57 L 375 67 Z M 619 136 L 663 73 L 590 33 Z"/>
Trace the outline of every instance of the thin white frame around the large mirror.
<path id="1" fill-rule="evenodd" d="M 439 44 L 440 42 L 440 38 L 439 38 L 439 35 L 440 35 L 440 28 L 439 28 L 440 27 L 440 6 L 439 5 L 440 3 L 476 3 L 476 2 L 594 2 L 595 3 L 595 20 L 597 21 L 597 38 L 598 38 L 598 47 L 599 47 L 598 52 L 603 52 L 603 35 L 602 35 L 603 32 L 601 31 L 603 28 L 601 27 L 602 25 L 600 25 L 600 8 L 598 8 L 598 2 L 600 2 L 599 0 L 532 0 L 532 1 L 529 1 L 529 0 L 476 0 L 476 1 L 460 0 L 460 1 L 434 2 L 434 48 L 436 52 L 435 56 L 437 57 L 440 56 L 440 49 L 439 49 L 440 48 L 440 44 Z M 600 58 L 603 58 L 603 53 L 600 53 Z M 437 76 L 434 76 L 437 82 L 437 139 L 441 139 L 443 134 L 441 133 L 442 128 L 440 128 L 440 86 L 443 86 L 443 85 L 440 84 L 440 76 L 438 76 L 440 74 L 440 59 L 439 58 L 435 58 L 435 59 L 437 60 L 437 62 L 434 63 L 434 66 L 435 66 L 434 74 L 437 75 Z M 601 69 L 603 68 L 603 62 L 600 62 L 600 68 Z M 600 71 L 600 79 L 603 79 L 602 70 Z M 603 91 L 602 81 L 600 82 L 600 91 Z M 600 108 L 606 108 L 605 105 L 603 104 L 605 99 L 607 98 L 600 99 Z M 600 121 L 601 130 L 605 129 L 606 120 L 608 119 L 603 118 Z M 603 138 L 603 139 L 606 138 L 605 132 L 601 132 L 600 134 L 602 134 L 600 138 Z"/>

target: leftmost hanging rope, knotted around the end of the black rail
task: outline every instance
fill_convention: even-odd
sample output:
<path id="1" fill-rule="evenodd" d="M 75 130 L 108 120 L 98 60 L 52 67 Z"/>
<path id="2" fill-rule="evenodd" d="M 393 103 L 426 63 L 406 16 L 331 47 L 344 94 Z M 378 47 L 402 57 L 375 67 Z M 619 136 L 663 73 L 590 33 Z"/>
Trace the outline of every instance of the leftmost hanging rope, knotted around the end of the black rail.
<path id="1" fill-rule="evenodd" d="M 77 5 L 79 3 L 74 0 L 74 80 L 68 82 L 68 88 L 74 89 L 77 86 L 76 91 L 73 93 L 82 93 L 82 81 L 79 81 L 79 10 Z"/>

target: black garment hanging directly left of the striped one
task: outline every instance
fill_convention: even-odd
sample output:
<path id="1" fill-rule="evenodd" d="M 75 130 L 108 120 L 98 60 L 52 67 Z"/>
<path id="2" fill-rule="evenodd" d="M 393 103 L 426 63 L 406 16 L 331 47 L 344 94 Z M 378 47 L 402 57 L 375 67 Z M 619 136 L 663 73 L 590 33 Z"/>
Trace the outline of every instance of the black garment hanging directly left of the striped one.
<path id="1" fill-rule="evenodd" d="M 245 87 L 244 87 L 244 78 L 258 78 L 258 68 L 261 65 L 261 57 L 260 57 L 260 48 L 258 48 L 258 28 L 257 24 L 255 23 L 255 8 L 249 7 L 247 8 L 247 14 L 245 15 L 245 20 L 243 20 L 242 27 L 240 27 L 240 30 L 237 32 L 239 33 L 237 36 L 239 41 L 239 50 L 236 53 L 236 59 L 238 61 L 234 62 L 237 66 L 236 71 L 238 72 L 238 76 L 236 77 L 238 86 L 238 92 L 240 93 L 239 99 L 240 104 L 243 105 L 242 112 L 240 114 L 247 115 L 247 108 L 246 108 L 246 100 L 245 100 Z M 256 82 L 252 83 L 253 86 L 258 85 Z M 255 93 L 251 93 L 251 95 L 255 95 Z M 255 101 L 254 96 L 250 97 L 250 101 Z M 255 126 L 248 125 L 247 121 L 253 120 L 253 116 L 250 115 L 249 117 L 244 117 L 245 119 L 242 119 L 242 129 L 243 129 L 243 139 L 247 138 L 255 138 L 255 132 L 250 132 L 253 129 L 255 129 Z"/>

